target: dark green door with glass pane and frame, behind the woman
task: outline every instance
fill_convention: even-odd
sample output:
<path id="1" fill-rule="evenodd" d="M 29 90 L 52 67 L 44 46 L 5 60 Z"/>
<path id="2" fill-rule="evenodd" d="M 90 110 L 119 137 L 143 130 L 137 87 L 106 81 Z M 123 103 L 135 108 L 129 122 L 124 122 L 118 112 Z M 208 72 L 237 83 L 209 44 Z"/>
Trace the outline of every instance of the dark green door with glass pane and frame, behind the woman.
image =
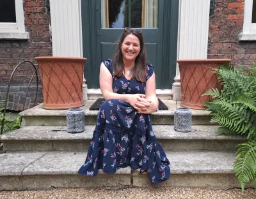
<path id="1" fill-rule="evenodd" d="M 99 88 L 101 61 L 111 59 L 124 27 L 135 27 L 142 30 L 157 89 L 170 89 L 176 68 L 178 10 L 177 0 L 82 0 L 88 87 Z"/>

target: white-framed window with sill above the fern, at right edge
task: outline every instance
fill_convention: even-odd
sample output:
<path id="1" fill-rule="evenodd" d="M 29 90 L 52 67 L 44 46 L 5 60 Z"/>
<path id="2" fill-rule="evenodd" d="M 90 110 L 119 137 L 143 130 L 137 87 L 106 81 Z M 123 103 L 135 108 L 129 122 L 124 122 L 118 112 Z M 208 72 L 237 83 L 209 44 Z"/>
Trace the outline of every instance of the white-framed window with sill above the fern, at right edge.
<path id="1" fill-rule="evenodd" d="M 256 0 L 244 1 L 243 33 L 239 35 L 240 41 L 256 40 Z"/>

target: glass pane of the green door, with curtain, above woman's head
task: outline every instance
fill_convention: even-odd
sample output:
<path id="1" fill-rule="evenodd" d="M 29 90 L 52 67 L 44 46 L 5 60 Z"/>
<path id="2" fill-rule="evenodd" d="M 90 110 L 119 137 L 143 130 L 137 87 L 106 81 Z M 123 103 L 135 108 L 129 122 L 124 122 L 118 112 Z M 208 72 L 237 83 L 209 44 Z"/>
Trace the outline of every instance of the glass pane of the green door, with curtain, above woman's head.
<path id="1" fill-rule="evenodd" d="M 102 27 L 157 27 L 158 0 L 102 0 Z"/>

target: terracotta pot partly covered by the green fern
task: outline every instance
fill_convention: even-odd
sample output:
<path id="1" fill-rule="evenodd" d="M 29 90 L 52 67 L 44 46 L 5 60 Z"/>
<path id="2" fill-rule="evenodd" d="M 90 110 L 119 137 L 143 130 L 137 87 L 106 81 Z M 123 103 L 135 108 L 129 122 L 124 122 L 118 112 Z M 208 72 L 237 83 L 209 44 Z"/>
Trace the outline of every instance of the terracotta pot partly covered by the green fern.
<path id="1" fill-rule="evenodd" d="M 180 68 L 180 83 L 182 92 L 182 107 L 204 110 L 202 104 L 211 100 L 209 96 L 201 96 L 212 88 L 221 89 L 218 75 L 212 73 L 212 68 L 219 64 L 230 63 L 230 59 L 187 59 L 178 60 Z M 186 97 L 185 97 L 186 96 Z"/>

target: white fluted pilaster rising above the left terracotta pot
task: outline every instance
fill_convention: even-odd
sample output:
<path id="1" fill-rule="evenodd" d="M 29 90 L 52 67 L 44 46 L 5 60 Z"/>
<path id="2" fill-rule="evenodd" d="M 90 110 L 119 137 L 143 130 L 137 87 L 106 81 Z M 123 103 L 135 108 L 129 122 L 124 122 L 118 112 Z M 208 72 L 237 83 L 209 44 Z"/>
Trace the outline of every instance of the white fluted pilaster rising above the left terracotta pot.
<path id="1" fill-rule="evenodd" d="M 52 55 L 83 57 L 81 0 L 50 0 Z"/>

